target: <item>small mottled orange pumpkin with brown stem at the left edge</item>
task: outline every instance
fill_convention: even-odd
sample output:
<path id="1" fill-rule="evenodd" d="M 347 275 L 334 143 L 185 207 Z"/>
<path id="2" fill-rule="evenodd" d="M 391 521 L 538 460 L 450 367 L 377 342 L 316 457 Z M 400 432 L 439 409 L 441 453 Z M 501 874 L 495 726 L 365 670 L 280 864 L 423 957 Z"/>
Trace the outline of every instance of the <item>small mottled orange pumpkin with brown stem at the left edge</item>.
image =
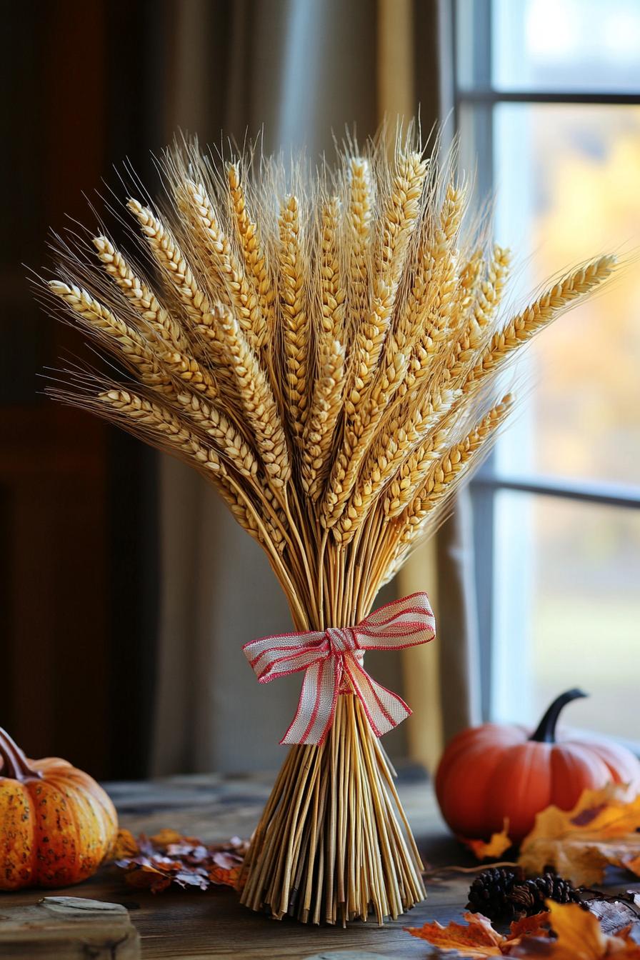
<path id="1" fill-rule="evenodd" d="M 0 890 L 91 876 L 118 829 L 107 794 L 66 760 L 28 760 L 0 729 Z"/>

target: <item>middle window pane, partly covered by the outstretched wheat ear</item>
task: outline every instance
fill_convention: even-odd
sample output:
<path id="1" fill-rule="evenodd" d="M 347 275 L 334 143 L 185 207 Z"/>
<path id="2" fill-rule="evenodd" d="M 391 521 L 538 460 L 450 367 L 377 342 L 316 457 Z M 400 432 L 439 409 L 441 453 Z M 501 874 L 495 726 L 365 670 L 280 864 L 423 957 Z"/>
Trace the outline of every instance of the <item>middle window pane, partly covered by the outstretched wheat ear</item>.
<path id="1" fill-rule="evenodd" d="M 528 398 L 498 468 L 640 484 L 640 108 L 499 105 L 493 159 L 496 237 L 516 255 L 510 306 L 558 268 L 631 252 L 525 355 Z"/>

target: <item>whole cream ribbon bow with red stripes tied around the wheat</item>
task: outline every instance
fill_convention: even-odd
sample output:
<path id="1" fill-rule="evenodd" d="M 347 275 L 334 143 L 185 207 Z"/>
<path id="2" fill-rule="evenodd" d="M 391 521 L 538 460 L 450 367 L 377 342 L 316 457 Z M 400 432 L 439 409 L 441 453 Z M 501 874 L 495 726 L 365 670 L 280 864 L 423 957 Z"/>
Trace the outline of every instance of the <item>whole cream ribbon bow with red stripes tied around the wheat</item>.
<path id="1" fill-rule="evenodd" d="M 261 636 L 243 647 L 260 684 L 304 670 L 296 716 L 280 743 L 320 744 L 329 732 L 339 693 L 353 692 L 376 736 L 411 714 L 404 700 L 372 680 L 366 650 L 403 650 L 436 636 L 426 593 L 413 593 L 369 613 L 355 627 Z"/>

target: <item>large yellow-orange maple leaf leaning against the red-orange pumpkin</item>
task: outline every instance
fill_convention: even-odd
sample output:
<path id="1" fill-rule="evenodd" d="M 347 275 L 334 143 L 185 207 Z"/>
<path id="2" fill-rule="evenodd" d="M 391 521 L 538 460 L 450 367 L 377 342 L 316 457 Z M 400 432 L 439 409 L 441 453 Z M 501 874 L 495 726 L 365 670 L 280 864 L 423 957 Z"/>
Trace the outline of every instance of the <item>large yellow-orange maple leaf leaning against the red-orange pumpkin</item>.
<path id="1" fill-rule="evenodd" d="M 548 806 L 525 837 L 518 863 L 529 874 L 553 867 L 574 884 L 601 883 L 608 864 L 640 876 L 640 795 L 621 784 L 585 790 L 572 810 Z"/>

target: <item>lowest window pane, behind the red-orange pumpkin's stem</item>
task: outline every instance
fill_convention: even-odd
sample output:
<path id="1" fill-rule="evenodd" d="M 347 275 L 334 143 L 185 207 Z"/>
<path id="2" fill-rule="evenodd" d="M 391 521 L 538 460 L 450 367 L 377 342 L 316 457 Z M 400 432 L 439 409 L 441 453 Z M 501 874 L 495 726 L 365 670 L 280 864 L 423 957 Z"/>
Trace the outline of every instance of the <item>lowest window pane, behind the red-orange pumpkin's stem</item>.
<path id="1" fill-rule="evenodd" d="M 640 511 L 502 491 L 495 530 L 496 719 L 581 686 L 567 722 L 640 741 Z"/>

